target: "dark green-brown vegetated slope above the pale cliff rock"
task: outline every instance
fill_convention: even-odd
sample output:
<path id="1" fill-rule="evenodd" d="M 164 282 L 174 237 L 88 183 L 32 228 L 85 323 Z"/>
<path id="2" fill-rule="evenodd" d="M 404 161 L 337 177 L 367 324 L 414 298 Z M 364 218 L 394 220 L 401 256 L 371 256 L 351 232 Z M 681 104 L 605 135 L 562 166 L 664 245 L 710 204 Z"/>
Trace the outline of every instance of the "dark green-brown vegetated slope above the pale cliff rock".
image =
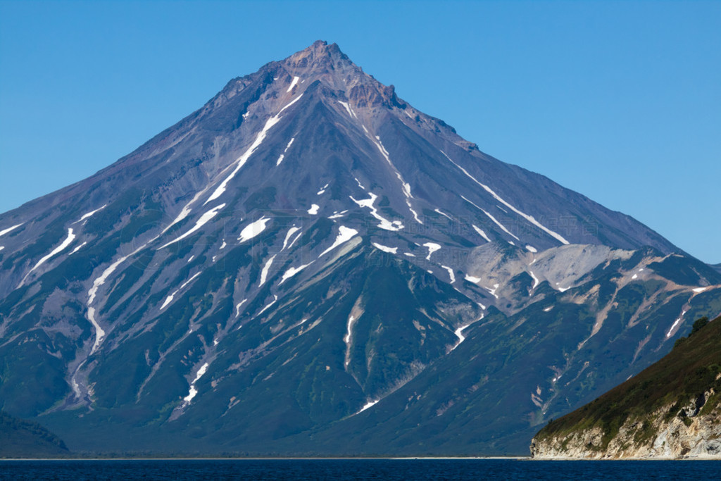
<path id="1" fill-rule="evenodd" d="M 666 413 L 672 418 L 691 397 L 714 387 L 715 392 L 705 410 L 721 400 L 721 317 L 701 330 L 682 338 L 671 353 L 632 379 L 611 389 L 598 399 L 557 420 L 552 420 L 536 434 L 540 441 L 594 426 L 604 431 L 603 447 L 608 446 L 627 418 L 643 420 L 660 407 L 673 405 Z M 646 423 L 648 424 L 648 423 Z M 644 433 L 650 438 L 654 433 Z M 641 439 L 639 439 L 641 441 Z"/>

